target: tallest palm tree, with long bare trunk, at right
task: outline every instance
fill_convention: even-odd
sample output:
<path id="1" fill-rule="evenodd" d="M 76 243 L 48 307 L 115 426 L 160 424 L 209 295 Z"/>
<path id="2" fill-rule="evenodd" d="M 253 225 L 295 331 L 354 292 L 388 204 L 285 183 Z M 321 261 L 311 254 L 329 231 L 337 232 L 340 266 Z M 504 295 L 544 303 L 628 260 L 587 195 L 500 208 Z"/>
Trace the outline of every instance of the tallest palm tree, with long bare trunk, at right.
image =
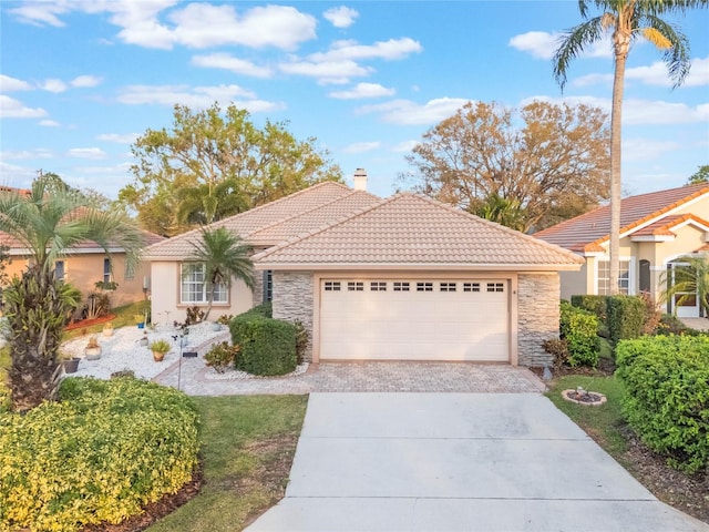
<path id="1" fill-rule="evenodd" d="M 559 40 L 554 55 L 554 78 L 564 89 L 571 62 L 584 49 L 613 33 L 615 73 L 613 108 L 610 112 L 610 278 L 619 276 L 620 250 L 620 116 L 625 64 L 630 44 L 645 38 L 662 50 L 674 86 L 680 85 L 689 73 L 689 43 L 672 24 L 660 17 L 684 13 L 688 9 L 707 6 L 709 0 L 579 0 L 578 10 L 585 22 L 572 28 Z M 595 4 L 603 14 L 588 18 L 588 8 Z M 610 283 L 610 294 L 618 294 L 617 282 Z"/>

